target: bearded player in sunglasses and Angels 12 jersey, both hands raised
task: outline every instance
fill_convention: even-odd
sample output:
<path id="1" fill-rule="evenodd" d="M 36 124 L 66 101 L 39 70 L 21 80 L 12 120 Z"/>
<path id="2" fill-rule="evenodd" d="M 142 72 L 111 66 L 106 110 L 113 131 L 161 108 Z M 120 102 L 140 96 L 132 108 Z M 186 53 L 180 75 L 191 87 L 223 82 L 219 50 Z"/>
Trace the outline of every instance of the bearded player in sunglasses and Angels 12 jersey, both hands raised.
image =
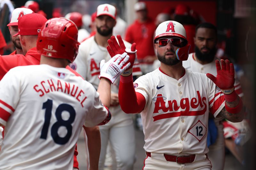
<path id="1" fill-rule="evenodd" d="M 141 114 L 147 155 L 143 169 L 211 169 L 206 146 L 209 112 L 215 118 L 243 120 L 243 103 L 234 91 L 234 66 L 222 60 L 221 68 L 216 62 L 217 77 L 185 69 L 182 61 L 188 59 L 190 44 L 176 21 L 161 23 L 154 42 L 159 69 L 133 83 L 128 68 L 119 85 L 122 110 Z M 115 44 L 109 42 L 112 55 L 125 48 Z M 126 51 L 133 52 L 132 63 L 135 47 Z"/>

